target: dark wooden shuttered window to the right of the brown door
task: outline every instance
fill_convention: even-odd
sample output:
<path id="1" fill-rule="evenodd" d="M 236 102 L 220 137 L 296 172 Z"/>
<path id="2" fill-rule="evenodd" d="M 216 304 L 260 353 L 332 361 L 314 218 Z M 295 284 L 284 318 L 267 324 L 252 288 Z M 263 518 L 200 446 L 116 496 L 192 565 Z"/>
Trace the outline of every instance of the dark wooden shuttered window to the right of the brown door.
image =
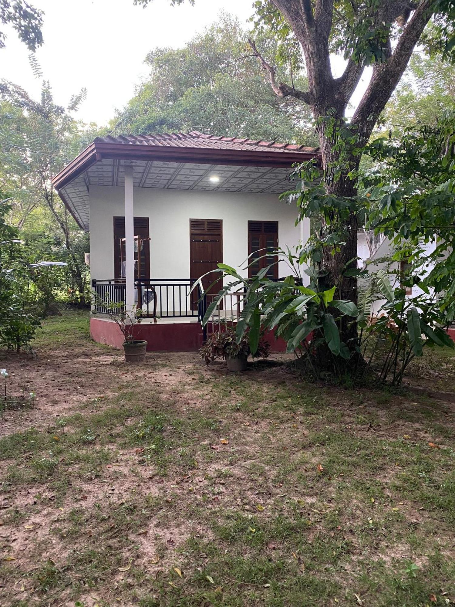
<path id="1" fill-rule="evenodd" d="M 278 222 L 248 222 L 248 278 L 274 263 L 266 276 L 278 278 L 278 257 L 267 255 L 278 248 Z"/>

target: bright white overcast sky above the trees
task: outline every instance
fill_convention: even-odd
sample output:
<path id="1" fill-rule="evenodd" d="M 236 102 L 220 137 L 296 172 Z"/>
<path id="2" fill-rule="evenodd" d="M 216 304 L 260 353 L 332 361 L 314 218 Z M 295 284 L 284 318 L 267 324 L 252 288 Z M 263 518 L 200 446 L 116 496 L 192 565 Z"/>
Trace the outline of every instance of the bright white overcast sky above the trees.
<path id="1" fill-rule="evenodd" d="M 220 10 L 246 25 L 252 0 L 196 0 L 172 7 L 169 0 L 153 0 L 146 8 L 133 0 L 31 0 L 44 11 L 44 44 L 36 58 L 49 79 L 56 103 L 66 106 L 82 87 L 87 99 L 78 117 L 86 123 L 107 124 L 116 108 L 129 101 L 147 76 L 144 58 L 150 49 L 184 46 L 197 32 L 217 20 Z M 29 50 L 13 30 L 0 50 L 0 78 L 22 86 L 38 97 L 41 79 L 33 75 Z M 342 67 L 335 61 L 335 70 Z M 354 95 L 360 98 L 368 76 Z"/>

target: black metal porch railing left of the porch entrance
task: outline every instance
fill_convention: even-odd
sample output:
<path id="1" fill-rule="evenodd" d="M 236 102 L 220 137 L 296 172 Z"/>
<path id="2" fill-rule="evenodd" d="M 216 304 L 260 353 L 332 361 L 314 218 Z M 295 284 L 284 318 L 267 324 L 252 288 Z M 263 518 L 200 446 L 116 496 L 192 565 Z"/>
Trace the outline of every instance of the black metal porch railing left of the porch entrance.
<path id="1" fill-rule="evenodd" d="M 190 293 L 196 279 L 135 280 L 135 304 L 146 318 L 192 318 L 201 320 L 207 309 L 207 298 L 200 287 Z M 92 280 L 95 291 L 94 309 L 99 314 L 121 311 L 126 301 L 125 279 Z M 119 308 L 112 306 L 118 302 Z M 109 308 L 107 305 L 109 304 Z M 114 310 L 112 310 L 114 308 Z"/>

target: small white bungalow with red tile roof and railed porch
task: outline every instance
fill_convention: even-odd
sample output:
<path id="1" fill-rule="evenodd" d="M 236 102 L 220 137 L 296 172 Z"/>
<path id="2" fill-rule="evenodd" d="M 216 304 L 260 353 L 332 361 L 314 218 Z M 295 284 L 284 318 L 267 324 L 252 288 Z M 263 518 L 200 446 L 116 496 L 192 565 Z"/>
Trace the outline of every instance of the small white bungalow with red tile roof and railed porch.
<path id="1" fill-rule="evenodd" d="M 100 302 L 108 296 L 143 310 L 149 350 L 200 347 L 202 311 L 198 295 L 188 296 L 192 283 L 217 263 L 242 268 L 260 249 L 306 242 L 309 222 L 296 226 L 297 209 L 278 195 L 290 187 L 292 164 L 316 155 L 314 148 L 197 131 L 96 138 L 52 180 L 78 225 L 90 230 L 93 339 L 121 345 Z M 286 275 L 281 263 L 271 277 Z M 238 314 L 236 296 L 223 305 Z"/>

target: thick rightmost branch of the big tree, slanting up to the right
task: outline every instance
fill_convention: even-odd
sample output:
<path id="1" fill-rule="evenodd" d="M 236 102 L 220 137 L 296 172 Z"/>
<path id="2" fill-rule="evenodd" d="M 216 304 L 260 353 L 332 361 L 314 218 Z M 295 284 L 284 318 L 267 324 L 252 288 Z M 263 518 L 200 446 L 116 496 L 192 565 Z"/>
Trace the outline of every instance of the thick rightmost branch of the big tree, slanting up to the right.
<path id="1" fill-rule="evenodd" d="M 392 55 L 373 69 L 368 89 L 352 117 L 352 124 L 359 128 L 360 140 L 368 140 L 385 104 L 395 90 L 408 65 L 411 53 L 433 13 L 432 0 L 420 0 L 397 42 Z"/>

